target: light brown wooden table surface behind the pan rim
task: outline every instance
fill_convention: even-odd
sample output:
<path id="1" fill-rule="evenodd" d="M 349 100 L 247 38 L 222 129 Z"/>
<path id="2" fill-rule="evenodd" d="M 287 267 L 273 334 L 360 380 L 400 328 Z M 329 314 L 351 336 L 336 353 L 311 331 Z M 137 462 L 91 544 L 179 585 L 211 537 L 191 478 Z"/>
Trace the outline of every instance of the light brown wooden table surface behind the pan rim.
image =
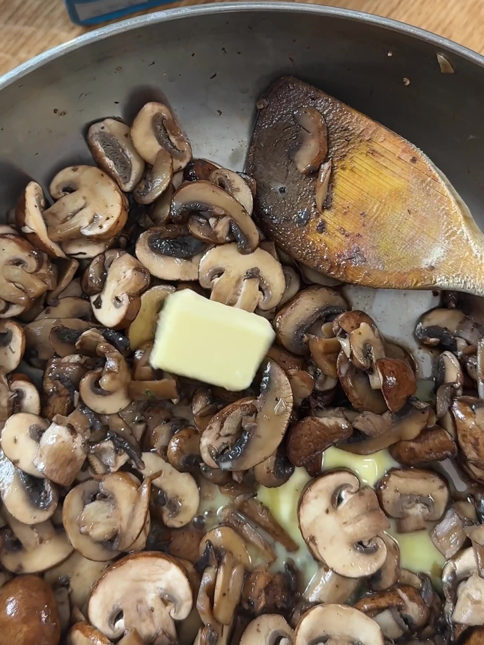
<path id="1" fill-rule="evenodd" d="M 165 5 L 201 4 L 182 0 Z M 484 0 L 313 0 L 401 20 L 484 53 Z M 73 25 L 62 0 L 0 0 L 0 74 L 87 29 Z"/>

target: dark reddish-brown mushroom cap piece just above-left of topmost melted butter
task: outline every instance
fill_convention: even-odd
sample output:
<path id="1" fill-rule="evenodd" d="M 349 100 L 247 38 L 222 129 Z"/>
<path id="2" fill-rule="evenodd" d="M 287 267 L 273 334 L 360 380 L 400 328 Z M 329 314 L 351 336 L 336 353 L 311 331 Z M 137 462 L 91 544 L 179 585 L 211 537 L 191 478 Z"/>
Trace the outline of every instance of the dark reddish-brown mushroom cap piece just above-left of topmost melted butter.
<path id="1" fill-rule="evenodd" d="M 287 437 L 287 456 L 294 466 L 307 466 L 327 448 L 348 439 L 353 433 L 345 416 L 305 417 L 292 426 Z"/>

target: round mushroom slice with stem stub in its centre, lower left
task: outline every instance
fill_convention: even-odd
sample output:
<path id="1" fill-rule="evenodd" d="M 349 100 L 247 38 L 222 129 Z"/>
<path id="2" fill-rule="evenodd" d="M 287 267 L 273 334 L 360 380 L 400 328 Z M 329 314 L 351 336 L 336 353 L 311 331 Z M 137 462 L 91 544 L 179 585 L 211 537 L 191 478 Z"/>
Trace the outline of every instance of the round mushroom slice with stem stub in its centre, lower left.
<path id="1" fill-rule="evenodd" d="M 63 506 L 70 542 L 90 560 L 105 562 L 119 551 L 136 550 L 150 502 L 148 477 L 142 484 L 129 473 L 108 473 L 72 488 Z"/>

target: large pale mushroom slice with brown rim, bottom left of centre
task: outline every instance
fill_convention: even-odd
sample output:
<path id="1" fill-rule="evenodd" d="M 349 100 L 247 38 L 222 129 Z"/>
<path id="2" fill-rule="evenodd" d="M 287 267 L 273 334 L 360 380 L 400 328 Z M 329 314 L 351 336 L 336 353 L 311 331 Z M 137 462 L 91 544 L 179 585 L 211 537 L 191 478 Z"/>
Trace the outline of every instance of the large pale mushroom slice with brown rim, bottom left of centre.
<path id="1" fill-rule="evenodd" d="M 163 628 L 176 637 L 172 621 L 187 618 L 192 604 L 192 588 L 180 564 L 165 553 L 142 551 L 126 555 L 103 573 L 92 588 L 88 617 L 109 639 L 136 629 L 149 642 Z"/>

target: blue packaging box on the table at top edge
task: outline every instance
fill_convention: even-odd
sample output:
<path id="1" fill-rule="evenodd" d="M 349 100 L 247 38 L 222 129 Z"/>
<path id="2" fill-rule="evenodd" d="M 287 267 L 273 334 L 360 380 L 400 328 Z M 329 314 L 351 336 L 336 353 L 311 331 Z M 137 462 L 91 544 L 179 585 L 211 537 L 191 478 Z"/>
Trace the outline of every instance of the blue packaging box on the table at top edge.
<path id="1" fill-rule="evenodd" d="M 123 15 L 143 11 L 171 0 L 65 0 L 70 19 L 76 25 L 96 25 Z"/>

